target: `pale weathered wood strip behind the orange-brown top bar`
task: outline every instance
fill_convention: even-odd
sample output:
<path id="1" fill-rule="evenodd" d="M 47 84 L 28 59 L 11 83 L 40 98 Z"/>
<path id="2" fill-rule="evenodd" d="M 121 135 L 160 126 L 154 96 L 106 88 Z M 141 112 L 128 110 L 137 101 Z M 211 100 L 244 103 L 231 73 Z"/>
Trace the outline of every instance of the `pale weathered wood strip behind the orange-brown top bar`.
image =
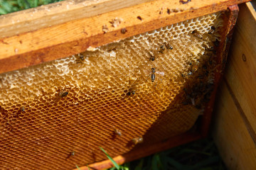
<path id="1" fill-rule="evenodd" d="M 0 38 L 127 8 L 152 0 L 66 0 L 0 16 Z"/>

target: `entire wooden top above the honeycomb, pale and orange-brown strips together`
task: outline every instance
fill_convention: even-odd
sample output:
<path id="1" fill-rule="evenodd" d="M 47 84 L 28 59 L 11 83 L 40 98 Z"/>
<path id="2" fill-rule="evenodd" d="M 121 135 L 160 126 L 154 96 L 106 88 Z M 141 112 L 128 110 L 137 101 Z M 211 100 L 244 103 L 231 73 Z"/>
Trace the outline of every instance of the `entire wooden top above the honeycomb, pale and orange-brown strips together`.
<path id="1" fill-rule="evenodd" d="M 58 3 L 11 13 L 0 18 L 0 73 L 68 57 L 88 47 L 93 50 L 93 47 L 222 11 L 245 1 L 248 0 L 137 0 L 131 4 L 127 0 L 120 5 L 117 5 L 119 0 L 86 1 L 84 5 L 79 3 L 85 1 L 73 4 L 63 1 L 65 9 Z M 30 18 L 34 11 L 40 12 Z M 27 19 L 18 22 L 19 17 Z M 119 26 L 111 23 L 115 19 Z M 107 28 L 105 32 L 103 26 Z M 16 33 L 19 29 L 21 32 Z"/>

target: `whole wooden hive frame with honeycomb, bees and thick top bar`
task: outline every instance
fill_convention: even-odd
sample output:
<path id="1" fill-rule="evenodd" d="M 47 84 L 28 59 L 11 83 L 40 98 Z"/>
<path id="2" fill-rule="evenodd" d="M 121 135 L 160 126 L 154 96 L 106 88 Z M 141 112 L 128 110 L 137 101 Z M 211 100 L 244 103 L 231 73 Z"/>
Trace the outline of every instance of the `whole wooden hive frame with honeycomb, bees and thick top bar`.
<path id="1" fill-rule="evenodd" d="M 242 2 L 62 1 L 1 16 L 1 169 L 106 169 L 99 147 L 122 164 L 206 137 Z"/>

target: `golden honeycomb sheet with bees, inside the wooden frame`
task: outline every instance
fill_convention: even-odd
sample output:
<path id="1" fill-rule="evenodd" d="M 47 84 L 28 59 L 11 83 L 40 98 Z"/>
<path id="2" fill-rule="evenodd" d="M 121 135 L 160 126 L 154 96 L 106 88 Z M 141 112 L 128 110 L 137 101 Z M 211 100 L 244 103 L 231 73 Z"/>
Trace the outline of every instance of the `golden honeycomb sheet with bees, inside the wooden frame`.
<path id="1" fill-rule="evenodd" d="M 74 169 L 188 131 L 222 27 L 213 13 L 0 74 L 0 169 Z"/>

